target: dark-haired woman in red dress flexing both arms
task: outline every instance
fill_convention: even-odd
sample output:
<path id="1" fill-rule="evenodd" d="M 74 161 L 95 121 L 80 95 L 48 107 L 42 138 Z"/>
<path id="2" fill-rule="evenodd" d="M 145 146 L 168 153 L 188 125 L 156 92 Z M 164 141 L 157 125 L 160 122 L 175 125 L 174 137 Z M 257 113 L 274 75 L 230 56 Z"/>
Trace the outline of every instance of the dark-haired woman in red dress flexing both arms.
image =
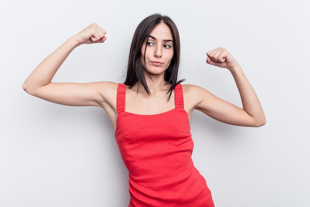
<path id="1" fill-rule="evenodd" d="M 231 72 L 243 108 L 201 87 L 181 85 L 178 30 L 169 17 L 154 14 L 136 29 L 124 84 L 51 82 L 70 52 L 82 44 L 103 43 L 105 33 L 93 23 L 70 37 L 37 66 L 23 89 L 50 102 L 95 105 L 106 111 L 129 171 L 130 207 L 213 207 L 206 181 L 191 159 L 189 120 L 198 109 L 228 124 L 265 124 L 258 97 L 240 65 L 224 48 L 207 52 L 208 64 Z"/>

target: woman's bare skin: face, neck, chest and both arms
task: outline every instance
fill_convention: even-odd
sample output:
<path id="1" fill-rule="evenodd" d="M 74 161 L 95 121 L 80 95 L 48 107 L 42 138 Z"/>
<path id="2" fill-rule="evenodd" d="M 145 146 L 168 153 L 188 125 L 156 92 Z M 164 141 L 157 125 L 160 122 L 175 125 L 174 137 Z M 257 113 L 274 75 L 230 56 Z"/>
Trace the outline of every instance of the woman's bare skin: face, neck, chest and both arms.
<path id="1" fill-rule="evenodd" d="M 52 78 L 66 57 L 76 47 L 82 44 L 103 43 L 106 40 L 105 30 L 96 23 L 91 24 L 80 33 L 69 38 L 56 51 L 52 52 L 30 74 L 23 84 L 23 89 L 41 99 L 64 105 L 90 105 L 102 107 L 112 125 L 116 126 L 116 92 L 117 83 L 53 83 Z M 142 90 L 138 82 L 131 89 L 126 89 L 125 111 L 136 114 L 157 114 L 173 109 L 174 93 L 169 101 L 165 85 L 164 71 L 169 66 L 173 56 L 172 35 L 164 23 L 160 23 L 150 34 L 147 50 L 142 58 L 146 59 L 148 72 L 152 78 L 145 75 L 151 94 Z M 224 123 L 258 127 L 265 124 L 265 115 L 258 97 L 251 84 L 244 75 L 241 66 L 224 48 L 217 48 L 207 52 L 207 63 L 227 68 L 238 87 L 243 108 L 223 101 L 207 90 L 195 85 L 183 85 L 184 109 L 189 119 L 195 109 Z M 146 74 L 146 73 L 145 73 Z M 138 90 L 139 88 L 139 90 Z"/>

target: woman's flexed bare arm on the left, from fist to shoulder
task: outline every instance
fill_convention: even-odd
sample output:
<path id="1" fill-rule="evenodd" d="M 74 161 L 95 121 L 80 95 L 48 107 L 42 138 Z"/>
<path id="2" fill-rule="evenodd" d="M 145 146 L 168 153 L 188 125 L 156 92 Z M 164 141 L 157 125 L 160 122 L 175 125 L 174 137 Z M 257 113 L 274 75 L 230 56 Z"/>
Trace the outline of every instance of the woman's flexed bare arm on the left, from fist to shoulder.
<path id="1" fill-rule="evenodd" d="M 106 40 L 105 33 L 101 27 L 93 23 L 80 33 L 70 37 L 35 68 L 24 82 L 23 89 L 33 96 L 57 104 L 96 105 L 107 109 L 107 105 L 111 106 L 111 100 L 108 100 L 108 97 L 114 96 L 116 83 L 52 82 L 53 76 L 70 52 L 82 44 L 103 43 Z M 112 106 L 112 108 L 114 107 Z"/>

